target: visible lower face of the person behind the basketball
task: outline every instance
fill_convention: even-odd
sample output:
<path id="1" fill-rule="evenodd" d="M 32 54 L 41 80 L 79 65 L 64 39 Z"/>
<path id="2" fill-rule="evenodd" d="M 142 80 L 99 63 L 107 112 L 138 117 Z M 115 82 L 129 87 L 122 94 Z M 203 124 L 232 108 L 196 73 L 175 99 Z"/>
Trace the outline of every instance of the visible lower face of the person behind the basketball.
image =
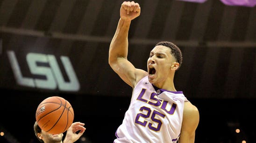
<path id="1" fill-rule="evenodd" d="M 40 139 L 43 140 L 44 143 L 61 143 L 63 134 L 52 135 L 42 130 Z"/>

